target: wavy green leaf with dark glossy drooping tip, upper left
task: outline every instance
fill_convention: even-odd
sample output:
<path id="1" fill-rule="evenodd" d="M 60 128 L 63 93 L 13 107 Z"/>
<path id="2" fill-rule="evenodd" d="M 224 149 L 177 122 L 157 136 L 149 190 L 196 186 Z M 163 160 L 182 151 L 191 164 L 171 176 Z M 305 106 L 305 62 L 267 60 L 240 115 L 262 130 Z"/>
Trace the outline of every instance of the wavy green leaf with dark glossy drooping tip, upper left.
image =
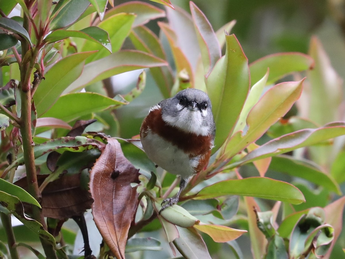
<path id="1" fill-rule="evenodd" d="M 77 37 L 95 42 L 111 53 L 111 44 L 108 32 L 96 26 L 87 27 L 80 31 L 67 31 L 63 29 L 56 30 L 50 33 L 45 40 L 47 43 L 52 43 L 68 37 Z"/>

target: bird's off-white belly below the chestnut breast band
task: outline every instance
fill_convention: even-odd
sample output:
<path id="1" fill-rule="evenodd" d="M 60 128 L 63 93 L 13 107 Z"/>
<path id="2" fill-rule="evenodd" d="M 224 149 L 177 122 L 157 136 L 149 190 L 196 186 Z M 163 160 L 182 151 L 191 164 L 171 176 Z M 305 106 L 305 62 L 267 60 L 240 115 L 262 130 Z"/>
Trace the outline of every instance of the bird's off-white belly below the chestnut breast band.
<path id="1" fill-rule="evenodd" d="M 147 156 L 169 173 L 181 175 L 184 179 L 195 173 L 194 168 L 198 164 L 198 157 L 190 159 L 177 146 L 150 130 L 146 137 L 141 139 L 141 144 Z"/>

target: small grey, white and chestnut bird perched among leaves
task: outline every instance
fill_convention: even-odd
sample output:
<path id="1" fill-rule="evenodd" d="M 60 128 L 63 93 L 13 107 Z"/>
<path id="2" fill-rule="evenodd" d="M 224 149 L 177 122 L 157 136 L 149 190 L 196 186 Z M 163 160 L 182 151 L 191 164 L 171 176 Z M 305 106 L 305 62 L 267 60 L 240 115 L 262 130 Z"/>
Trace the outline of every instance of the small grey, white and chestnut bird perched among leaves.
<path id="1" fill-rule="evenodd" d="M 181 176 L 178 193 L 163 200 L 160 212 L 176 204 L 189 178 L 207 166 L 215 130 L 211 101 L 201 90 L 182 90 L 150 108 L 140 128 L 142 147 L 158 166 Z"/>

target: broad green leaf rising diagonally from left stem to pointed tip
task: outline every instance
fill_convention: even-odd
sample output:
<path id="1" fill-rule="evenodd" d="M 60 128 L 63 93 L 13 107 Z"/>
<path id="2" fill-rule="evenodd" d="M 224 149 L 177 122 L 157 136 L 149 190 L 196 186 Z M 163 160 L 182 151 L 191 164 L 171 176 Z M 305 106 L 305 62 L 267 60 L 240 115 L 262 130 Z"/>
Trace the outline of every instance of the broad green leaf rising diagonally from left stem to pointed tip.
<path id="1" fill-rule="evenodd" d="M 40 117 L 59 98 L 61 93 L 81 74 L 85 59 L 94 52 L 81 52 L 67 56 L 52 66 L 45 74 L 33 100 Z"/>

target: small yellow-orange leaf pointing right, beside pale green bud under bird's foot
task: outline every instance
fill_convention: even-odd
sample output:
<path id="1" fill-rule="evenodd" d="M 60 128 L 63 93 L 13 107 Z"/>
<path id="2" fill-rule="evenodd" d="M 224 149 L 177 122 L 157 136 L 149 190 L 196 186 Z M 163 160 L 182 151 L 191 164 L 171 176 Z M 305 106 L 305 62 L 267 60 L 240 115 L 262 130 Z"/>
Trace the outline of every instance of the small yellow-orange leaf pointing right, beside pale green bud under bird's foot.
<path id="1" fill-rule="evenodd" d="M 240 230 L 235 228 L 229 228 L 222 225 L 213 225 L 213 224 L 202 224 L 194 225 L 194 227 L 201 232 L 209 235 L 215 242 L 228 242 L 234 240 L 242 234 L 246 233 L 246 230 Z"/>

